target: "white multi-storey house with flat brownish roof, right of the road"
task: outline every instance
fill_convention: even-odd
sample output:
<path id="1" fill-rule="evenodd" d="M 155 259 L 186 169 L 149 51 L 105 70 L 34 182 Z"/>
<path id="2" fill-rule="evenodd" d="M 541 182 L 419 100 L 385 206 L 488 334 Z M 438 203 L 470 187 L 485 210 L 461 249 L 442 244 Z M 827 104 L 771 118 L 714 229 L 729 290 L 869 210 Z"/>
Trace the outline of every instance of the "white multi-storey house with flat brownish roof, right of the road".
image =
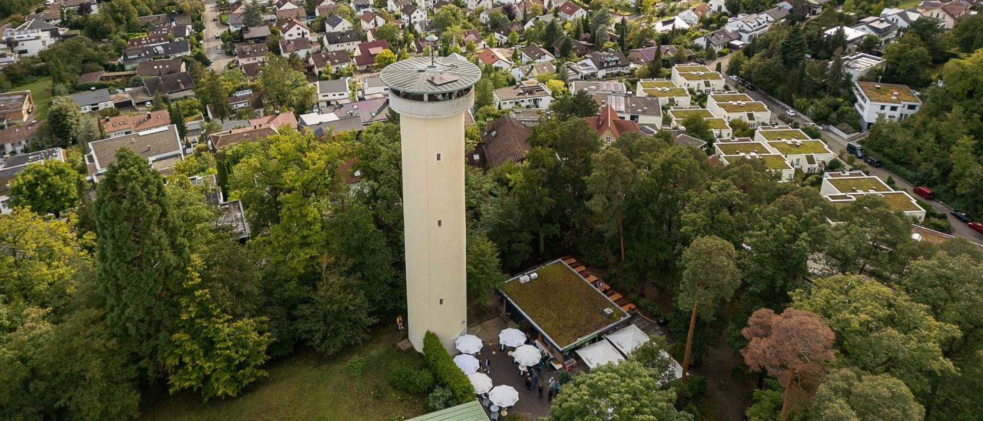
<path id="1" fill-rule="evenodd" d="M 867 130 L 879 117 L 888 121 L 901 121 L 918 112 L 921 99 L 907 85 L 854 82 L 854 105 L 860 113 L 860 126 Z"/>

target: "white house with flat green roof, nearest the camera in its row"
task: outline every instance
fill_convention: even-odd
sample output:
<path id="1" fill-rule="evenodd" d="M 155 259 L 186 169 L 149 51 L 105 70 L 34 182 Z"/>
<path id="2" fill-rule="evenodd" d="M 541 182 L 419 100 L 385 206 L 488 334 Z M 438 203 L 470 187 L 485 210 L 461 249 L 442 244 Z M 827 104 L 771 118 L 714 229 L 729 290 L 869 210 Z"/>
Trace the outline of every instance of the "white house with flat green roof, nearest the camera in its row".
<path id="1" fill-rule="evenodd" d="M 918 222 L 925 219 L 925 210 L 907 192 L 896 191 L 880 178 L 860 171 L 827 172 L 823 175 L 819 194 L 836 205 L 848 204 L 864 196 L 880 196 L 891 210 L 903 212 Z"/>

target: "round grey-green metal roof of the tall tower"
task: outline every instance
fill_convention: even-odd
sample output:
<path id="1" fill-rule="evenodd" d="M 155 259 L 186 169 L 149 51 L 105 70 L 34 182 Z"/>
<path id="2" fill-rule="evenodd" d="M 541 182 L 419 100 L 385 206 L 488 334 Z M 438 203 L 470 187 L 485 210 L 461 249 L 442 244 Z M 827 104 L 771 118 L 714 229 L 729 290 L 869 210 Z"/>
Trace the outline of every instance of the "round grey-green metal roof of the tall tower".
<path id="1" fill-rule="evenodd" d="M 386 66 L 379 77 L 390 90 L 438 93 L 471 87 L 481 79 L 482 71 L 460 59 L 413 57 Z"/>

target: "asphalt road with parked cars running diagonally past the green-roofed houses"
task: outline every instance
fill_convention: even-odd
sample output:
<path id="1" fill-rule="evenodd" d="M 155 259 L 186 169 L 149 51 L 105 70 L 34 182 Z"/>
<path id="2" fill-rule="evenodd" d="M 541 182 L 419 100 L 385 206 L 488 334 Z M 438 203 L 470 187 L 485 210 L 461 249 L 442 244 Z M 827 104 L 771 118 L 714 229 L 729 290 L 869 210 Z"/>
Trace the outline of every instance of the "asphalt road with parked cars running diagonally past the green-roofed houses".
<path id="1" fill-rule="evenodd" d="M 730 61 L 730 55 L 728 54 L 727 56 L 724 56 L 724 57 L 722 57 L 721 59 L 719 59 L 717 61 L 711 62 L 710 63 L 711 69 L 713 69 L 714 66 L 717 65 L 717 62 L 718 61 L 721 62 L 721 63 L 723 63 L 722 64 L 722 69 L 725 72 L 726 69 L 727 69 L 727 64 L 729 64 L 729 61 Z M 726 79 L 726 83 L 727 83 L 727 85 L 730 85 L 731 88 L 735 88 L 736 89 L 736 87 L 737 87 L 737 85 L 733 81 L 731 81 L 729 79 Z M 769 96 L 769 95 L 761 92 L 760 90 L 745 90 L 745 93 L 747 93 L 749 96 L 751 96 L 755 100 L 762 101 L 766 105 L 768 105 L 768 108 L 772 110 L 773 120 L 774 119 L 777 119 L 778 116 L 780 116 L 780 115 L 785 115 L 785 110 L 789 109 L 788 107 L 785 107 L 785 106 L 781 105 L 778 101 L 776 101 L 775 99 L 773 99 L 771 96 Z M 795 117 L 792 117 L 792 120 L 798 122 L 799 125 L 804 125 L 805 123 L 811 123 L 812 122 L 811 120 L 809 120 L 808 117 L 803 116 L 802 113 L 800 113 L 798 111 L 796 111 L 795 114 L 796 115 L 795 115 Z M 862 135 L 860 138 L 857 138 L 855 140 L 860 140 L 860 139 L 863 139 L 864 137 L 866 137 L 866 134 Z M 830 148 L 830 150 L 833 150 L 834 152 L 837 152 L 837 153 L 839 152 L 839 150 L 845 150 L 846 149 L 846 140 L 843 139 L 843 138 L 841 138 L 841 137 L 839 137 L 837 134 L 835 134 L 835 133 L 833 133 L 831 131 L 828 131 L 828 130 L 824 130 L 823 131 L 823 142 L 826 142 L 826 145 Z M 875 168 L 875 167 L 871 167 L 871 166 L 868 166 L 867 169 L 868 169 L 868 171 L 870 172 L 871 175 L 876 175 L 876 176 L 880 177 L 882 180 L 885 180 L 885 181 L 888 180 L 888 177 L 889 176 L 894 177 L 896 188 L 901 189 L 901 190 L 904 190 L 904 191 L 907 191 L 912 197 L 917 197 L 914 193 L 911 193 L 911 189 L 914 186 L 912 186 L 907 181 L 904 181 L 903 179 L 901 179 L 900 177 L 898 177 L 896 174 L 892 173 L 891 171 L 888 171 L 888 170 L 886 170 L 884 168 Z M 929 187 L 931 187 L 931 186 L 929 186 Z M 922 198 L 918 198 L 918 199 L 920 199 L 924 203 L 927 203 L 929 206 L 932 207 L 932 209 L 945 214 L 949 218 L 949 223 L 953 226 L 953 229 L 949 232 L 949 234 L 958 235 L 960 237 L 965 237 L 965 238 L 968 238 L 969 240 L 974 241 L 974 242 L 977 242 L 977 243 L 983 243 L 983 234 L 980 234 L 979 232 L 974 231 L 972 228 L 969 228 L 969 226 L 966 225 L 965 222 L 962 222 L 962 221 L 956 219 L 952 215 L 952 213 L 950 213 L 950 210 L 953 210 L 952 208 L 950 208 L 946 204 L 944 204 L 942 202 L 939 202 L 939 201 L 929 201 L 929 200 L 925 200 L 925 199 L 922 199 Z M 973 216 L 973 215 L 970 215 L 970 216 Z M 976 215 L 976 216 L 979 217 L 979 218 L 981 218 L 981 219 L 983 219 L 983 215 Z"/>

